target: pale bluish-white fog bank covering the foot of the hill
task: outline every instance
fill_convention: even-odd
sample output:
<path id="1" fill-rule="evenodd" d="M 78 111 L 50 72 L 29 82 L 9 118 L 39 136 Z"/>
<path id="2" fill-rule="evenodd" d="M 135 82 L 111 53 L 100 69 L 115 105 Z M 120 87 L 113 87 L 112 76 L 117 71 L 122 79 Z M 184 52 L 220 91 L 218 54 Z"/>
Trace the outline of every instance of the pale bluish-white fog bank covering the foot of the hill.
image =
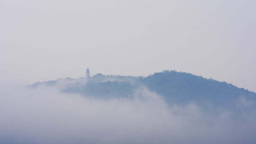
<path id="1" fill-rule="evenodd" d="M 138 89 L 131 98 L 94 99 L 53 87 L 0 90 L 2 144 L 255 144 L 255 102 L 235 110 L 169 105 Z"/>

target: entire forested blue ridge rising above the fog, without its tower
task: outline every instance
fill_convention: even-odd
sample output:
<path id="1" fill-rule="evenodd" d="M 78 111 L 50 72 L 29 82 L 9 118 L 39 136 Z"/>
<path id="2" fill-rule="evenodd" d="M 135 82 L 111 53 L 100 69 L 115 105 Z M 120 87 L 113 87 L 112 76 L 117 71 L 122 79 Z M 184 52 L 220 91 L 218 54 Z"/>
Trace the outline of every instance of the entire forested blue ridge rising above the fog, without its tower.
<path id="1" fill-rule="evenodd" d="M 147 77 L 96 74 L 89 79 L 58 79 L 37 82 L 39 85 L 58 86 L 62 92 L 80 93 L 98 98 L 129 97 L 134 90 L 146 87 L 162 95 L 169 103 L 212 102 L 229 104 L 238 97 L 256 100 L 256 93 L 227 82 L 205 79 L 186 72 L 164 71 Z"/>

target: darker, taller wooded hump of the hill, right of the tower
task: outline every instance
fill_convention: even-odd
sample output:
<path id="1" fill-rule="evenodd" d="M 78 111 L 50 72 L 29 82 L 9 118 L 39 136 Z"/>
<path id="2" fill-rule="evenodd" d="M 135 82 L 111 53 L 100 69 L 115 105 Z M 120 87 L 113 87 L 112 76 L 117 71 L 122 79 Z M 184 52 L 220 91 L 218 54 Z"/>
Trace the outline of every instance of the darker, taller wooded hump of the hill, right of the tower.
<path id="1" fill-rule="evenodd" d="M 186 72 L 157 72 L 141 81 L 149 90 L 163 95 L 170 102 L 210 101 L 225 104 L 241 96 L 256 99 L 255 92 Z"/>

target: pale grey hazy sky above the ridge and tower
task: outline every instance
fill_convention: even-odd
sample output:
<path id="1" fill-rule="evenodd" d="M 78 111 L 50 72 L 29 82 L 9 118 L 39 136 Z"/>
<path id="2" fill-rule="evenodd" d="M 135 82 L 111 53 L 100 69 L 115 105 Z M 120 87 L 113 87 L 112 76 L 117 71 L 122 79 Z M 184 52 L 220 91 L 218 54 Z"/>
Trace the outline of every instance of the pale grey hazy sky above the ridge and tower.
<path id="1" fill-rule="evenodd" d="M 3 81 L 177 70 L 256 91 L 255 0 L 1 0 Z"/>

